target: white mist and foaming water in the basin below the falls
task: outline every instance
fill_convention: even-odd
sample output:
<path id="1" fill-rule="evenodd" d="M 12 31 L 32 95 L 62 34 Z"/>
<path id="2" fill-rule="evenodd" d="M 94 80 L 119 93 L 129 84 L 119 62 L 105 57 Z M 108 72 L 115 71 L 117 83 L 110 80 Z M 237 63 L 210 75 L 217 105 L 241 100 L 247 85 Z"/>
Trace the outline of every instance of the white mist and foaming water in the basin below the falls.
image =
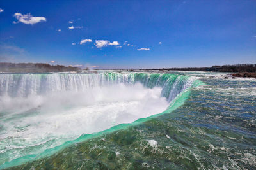
<path id="1" fill-rule="evenodd" d="M 135 85 L 95 87 L 84 92 L 1 97 L 0 163 L 122 123 L 161 113 L 168 107 L 161 88 Z M 6 154 L 8 153 L 8 154 Z"/>

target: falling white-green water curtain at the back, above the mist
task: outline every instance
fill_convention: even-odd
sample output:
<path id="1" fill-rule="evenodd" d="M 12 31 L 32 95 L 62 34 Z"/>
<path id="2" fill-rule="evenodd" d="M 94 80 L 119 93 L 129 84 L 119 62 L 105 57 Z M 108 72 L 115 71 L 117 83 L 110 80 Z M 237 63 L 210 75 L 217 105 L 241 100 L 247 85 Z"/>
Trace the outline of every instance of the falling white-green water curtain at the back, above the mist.
<path id="1" fill-rule="evenodd" d="M 148 73 L 0 74 L 0 96 L 28 97 L 51 92 L 83 92 L 93 87 L 140 82 L 149 88 L 162 87 L 161 96 L 171 101 L 190 87 L 194 80 L 188 76 Z"/>

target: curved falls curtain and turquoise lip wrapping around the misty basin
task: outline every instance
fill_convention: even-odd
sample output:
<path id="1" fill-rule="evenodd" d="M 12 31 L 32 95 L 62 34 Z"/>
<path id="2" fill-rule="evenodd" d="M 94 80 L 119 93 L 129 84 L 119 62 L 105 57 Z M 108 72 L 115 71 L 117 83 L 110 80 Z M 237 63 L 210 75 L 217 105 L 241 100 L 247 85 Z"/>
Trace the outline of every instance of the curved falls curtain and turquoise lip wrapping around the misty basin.
<path id="1" fill-rule="evenodd" d="M 82 134 L 79 138 L 73 141 L 66 141 L 63 145 L 54 148 L 46 149 L 44 152 L 35 155 L 26 155 L 13 159 L 0 165 L 0 169 L 18 166 L 26 162 L 30 162 L 42 157 L 50 156 L 56 152 L 60 152 L 63 148 L 74 143 L 86 141 L 90 138 L 95 138 L 102 134 L 110 133 L 120 129 L 125 129 L 142 122 L 146 122 L 151 118 L 171 113 L 184 104 L 190 94 L 190 89 L 199 85 L 204 85 L 196 78 L 182 76 L 177 74 L 160 74 L 160 73 L 99 73 L 99 74 L 69 74 L 69 73 L 54 73 L 54 74 L 0 74 L 0 96 L 23 96 L 30 94 L 44 94 L 49 90 L 84 90 L 90 87 L 100 87 L 113 83 L 142 83 L 145 87 L 162 87 L 161 96 L 166 97 L 170 102 L 168 108 L 162 113 L 157 113 L 147 118 L 139 118 L 131 124 L 118 124 L 104 131 L 93 134 Z M 49 89 L 50 88 L 50 89 Z"/>

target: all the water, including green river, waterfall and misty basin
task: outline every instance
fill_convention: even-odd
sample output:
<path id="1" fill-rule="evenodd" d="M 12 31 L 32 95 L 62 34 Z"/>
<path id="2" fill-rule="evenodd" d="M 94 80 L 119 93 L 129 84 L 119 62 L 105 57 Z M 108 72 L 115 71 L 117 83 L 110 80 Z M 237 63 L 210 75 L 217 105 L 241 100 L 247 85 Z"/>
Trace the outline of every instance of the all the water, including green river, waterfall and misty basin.
<path id="1" fill-rule="evenodd" d="M 255 169 L 256 79 L 0 74 L 0 169 Z"/>

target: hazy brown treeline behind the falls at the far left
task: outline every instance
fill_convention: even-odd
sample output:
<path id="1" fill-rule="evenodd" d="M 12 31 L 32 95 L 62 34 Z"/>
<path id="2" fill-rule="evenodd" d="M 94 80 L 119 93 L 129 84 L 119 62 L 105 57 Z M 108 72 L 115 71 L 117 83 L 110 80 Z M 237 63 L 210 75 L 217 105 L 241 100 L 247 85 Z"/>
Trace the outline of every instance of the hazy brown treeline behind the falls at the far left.
<path id="1" fill-rule="evenodd" d="M 0 71 L 2 72 L 25 72 L 25 73 L 42 73 L 42 72 L 62 72 L 77 71 L 78 67 L 66 67 L 62 65 L 51 65 L 45 63 L 10 63 L 0 62 Z"/>

